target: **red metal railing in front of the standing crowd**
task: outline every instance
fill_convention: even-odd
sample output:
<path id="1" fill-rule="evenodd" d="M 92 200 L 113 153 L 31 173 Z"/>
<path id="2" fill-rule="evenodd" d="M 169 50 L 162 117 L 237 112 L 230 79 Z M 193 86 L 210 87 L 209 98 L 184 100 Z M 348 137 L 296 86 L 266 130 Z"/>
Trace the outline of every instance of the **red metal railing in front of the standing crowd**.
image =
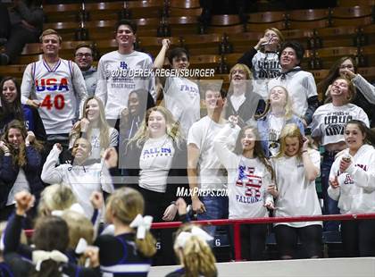
<path id="1" fill-rule="evenodd" d="M 288 216 L 288 217 L 256 217 L 244 219 L 218 219 L 218 220 L 204 220 L 193 221 L 192 223 L 200 225 L 233 225 L 234 229 L 234 248 L 235 260 L 241 261 L 241 236 L 239 226 L 241 224 L 266 224 L 276 222 L 317 222 L 317 221 L 345 221 L 345 220 L 360 220 L 360 219 L 375 219 L 373 214 L 330 214 L 330 215 L 313 215 L 313 216 Z M 181 222 L 155 222 L 152 225 L 154 229 L 165 228 L 179 228 Z"/>

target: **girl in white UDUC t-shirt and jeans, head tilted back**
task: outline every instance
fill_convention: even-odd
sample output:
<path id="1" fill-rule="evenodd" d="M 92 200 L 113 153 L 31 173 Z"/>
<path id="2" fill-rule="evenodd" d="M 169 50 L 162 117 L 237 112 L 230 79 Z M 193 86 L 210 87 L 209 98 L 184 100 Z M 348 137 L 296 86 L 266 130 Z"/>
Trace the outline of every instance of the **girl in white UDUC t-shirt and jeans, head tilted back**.
<path id="1" fill-rule="evenodd" d="M 324 147 L 321 162 L 321 190 L 324 214 L 339 214 L 337 201 L 328 194 L 330 167 L 337 153 L 346 148 L 344 130 L 346 122 L 356 119 L 369 126 L 369 118 L 361 107 L 351 104 L 355 88 L 350 80 L 337 78 L 329 89 L 331 103 L 321 105 L 312 116 L 312 139 Z M 338 231 L 338 222 L 325 222 L 327 231 Z"/>

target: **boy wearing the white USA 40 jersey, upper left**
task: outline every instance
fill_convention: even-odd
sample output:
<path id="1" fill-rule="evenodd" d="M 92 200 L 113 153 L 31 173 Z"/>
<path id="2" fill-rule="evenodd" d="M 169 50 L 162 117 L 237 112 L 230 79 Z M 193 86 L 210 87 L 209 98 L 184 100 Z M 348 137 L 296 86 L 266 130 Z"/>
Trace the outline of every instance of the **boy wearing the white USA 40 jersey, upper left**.
<path id="1" fill-rule="evenodd" d="M 79 66 L 59 57 L 62 38 L 54 29 L 46 29 L 40 43 L 43 59 L 26 67 L 21 103 L 38 108 L 47 134 L 46 153 L 49 153 L 57 142 L 67 149 L 69 132 L 77 119 L 76 111 L 87 97 L 87 89 Z M 63 155 L 62 160 L 66 158 Z"/>

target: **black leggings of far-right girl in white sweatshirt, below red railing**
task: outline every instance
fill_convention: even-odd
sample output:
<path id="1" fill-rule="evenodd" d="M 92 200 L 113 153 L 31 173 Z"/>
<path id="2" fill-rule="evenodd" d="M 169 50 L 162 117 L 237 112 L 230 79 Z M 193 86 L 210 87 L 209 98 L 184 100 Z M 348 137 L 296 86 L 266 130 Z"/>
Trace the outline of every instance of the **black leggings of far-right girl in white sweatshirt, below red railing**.
<path id="1" fill-rule="evenodd" d="M 346 256 L 375 256 L 375 220 L 341 222 Z"/>

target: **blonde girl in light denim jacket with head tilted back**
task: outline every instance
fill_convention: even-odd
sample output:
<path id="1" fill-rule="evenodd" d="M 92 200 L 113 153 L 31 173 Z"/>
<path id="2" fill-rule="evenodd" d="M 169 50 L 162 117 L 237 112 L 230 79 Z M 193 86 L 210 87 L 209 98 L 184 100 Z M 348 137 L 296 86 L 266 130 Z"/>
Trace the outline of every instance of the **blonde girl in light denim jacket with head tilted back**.
<path id="1" fill-rule="evenodd" d="M 286 124 L 295 123 L 304 136 L 304 123 L 293 113 L 291 99 L 284 87 L 273 87 L 268 105 L 258 120 L 258 131 L 262 148 L 267 157 L 279 154 L 279 137 Z"/>

